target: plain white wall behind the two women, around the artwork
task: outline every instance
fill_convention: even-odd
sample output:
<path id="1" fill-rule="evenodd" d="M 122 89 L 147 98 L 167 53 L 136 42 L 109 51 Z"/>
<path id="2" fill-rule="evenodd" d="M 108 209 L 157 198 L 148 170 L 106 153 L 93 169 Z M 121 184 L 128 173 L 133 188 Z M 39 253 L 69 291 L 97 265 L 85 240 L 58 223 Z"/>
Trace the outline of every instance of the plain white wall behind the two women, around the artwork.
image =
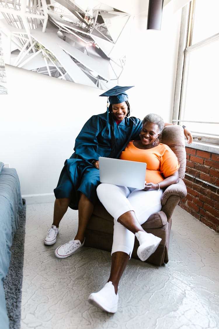
<path id="1" fill-rule="evenodd" d="M 110 1 L 108 1 L 110 3 Z M 132 1 L 134 29 L 121 86 L 134 116 L 156 112 L 171 122 L 181 11 L 164 7 L 161 31 L 146 31 L 147 8 Z M 129 3 L 130 5 L 130 3 Z M 124 10 L 124 9 L 123 9 Z M 16 168 L 27 202 L 52 201 L 53 189 L 85 121 L 106 110 L 101 90 L 6 66 L 0 98 L 0 161 Z"/>

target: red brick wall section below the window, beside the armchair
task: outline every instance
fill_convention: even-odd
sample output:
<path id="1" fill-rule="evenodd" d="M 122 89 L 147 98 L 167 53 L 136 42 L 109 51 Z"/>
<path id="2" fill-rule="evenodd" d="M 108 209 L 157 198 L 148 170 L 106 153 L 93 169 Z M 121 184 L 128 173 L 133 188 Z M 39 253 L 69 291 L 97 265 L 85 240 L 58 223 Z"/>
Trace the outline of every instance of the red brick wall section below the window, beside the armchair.
<path id="1" fill-rule="evenodd" d="M 219 155 L 186 147 L 186 172 L 219 187 Z M 219 232 L 219 190 L 185 176 L 187 196 L 180 207 Z"/>

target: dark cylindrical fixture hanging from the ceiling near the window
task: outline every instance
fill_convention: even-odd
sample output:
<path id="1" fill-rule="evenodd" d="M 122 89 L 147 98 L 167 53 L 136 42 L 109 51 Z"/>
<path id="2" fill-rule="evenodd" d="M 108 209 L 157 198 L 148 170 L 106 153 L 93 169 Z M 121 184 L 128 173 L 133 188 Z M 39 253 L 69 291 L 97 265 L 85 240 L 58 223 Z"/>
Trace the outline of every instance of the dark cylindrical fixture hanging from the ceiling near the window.
<path id="1" fill-rule="evenodd" d="M 147 30 L 160 30 L 164 0 L 149 0 Z"/>

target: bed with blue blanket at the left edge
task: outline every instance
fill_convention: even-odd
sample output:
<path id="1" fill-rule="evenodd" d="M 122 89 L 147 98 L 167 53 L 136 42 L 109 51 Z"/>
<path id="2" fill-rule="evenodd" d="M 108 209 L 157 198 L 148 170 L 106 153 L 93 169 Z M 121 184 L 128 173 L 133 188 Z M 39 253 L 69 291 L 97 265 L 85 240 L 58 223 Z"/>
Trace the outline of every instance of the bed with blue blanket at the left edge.
<path id="1" fill-rule="evenodd" d="M 0 162 L 0 327 L 8 329 L 3 280 L 9 269 L 12 239 L 19 227 L 18 212 L 22 209 L 22 198 L 16 170 L 3 166 Z"/>

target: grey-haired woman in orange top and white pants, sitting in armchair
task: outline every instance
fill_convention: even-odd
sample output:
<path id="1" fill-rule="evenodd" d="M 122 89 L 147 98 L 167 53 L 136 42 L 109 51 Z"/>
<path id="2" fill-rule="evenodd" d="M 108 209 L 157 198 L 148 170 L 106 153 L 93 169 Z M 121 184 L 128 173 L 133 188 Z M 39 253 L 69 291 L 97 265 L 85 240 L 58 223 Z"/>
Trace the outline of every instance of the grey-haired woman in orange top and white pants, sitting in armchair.
<path id="1" fill-rule="evenodd" d="M 89 301 L 111 313 L 117 311 L 118 284 L 131 257 L 135 236 L 139 240 L 137 254 L 145 261 L 158 247 L 161 239 L 146 233 L 141 224 L 161 210 L 163 189 L 179 181 L 179 162 L 174 152 L 159 143 L 158 136 L 164 120 L 157 114 L 148 114 L 142 121 L 139 141 L 130 141 L 120 159 L 147 164 L 143 190 L 100 184 L 97 194 L 106 210 L 114 217 L 112 264 L 106 285 L 91 293 Z"/>

